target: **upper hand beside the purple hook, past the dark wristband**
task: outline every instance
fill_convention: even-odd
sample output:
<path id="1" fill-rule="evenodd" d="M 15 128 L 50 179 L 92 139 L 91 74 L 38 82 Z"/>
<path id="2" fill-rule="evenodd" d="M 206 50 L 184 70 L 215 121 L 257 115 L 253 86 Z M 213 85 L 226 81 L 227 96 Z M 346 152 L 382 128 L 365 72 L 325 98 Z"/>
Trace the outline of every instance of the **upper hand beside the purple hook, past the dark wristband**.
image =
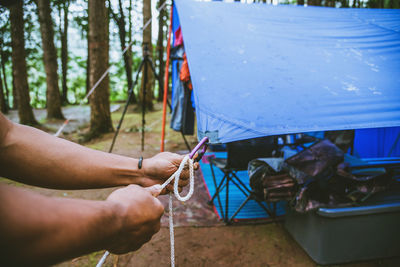
<path id="1" fill-rule="evenodd" d="M 181 164 L 181 161 L 185 155 L 178 155 L 170 152 L 162 152 L 155 155 L 152 158 L 143 160 L 143 170 L 144 177 L 140 179 L 139 184 L 142 186 L 151 186 L 154 184 L 163 184 L 165 180 L 171 177 L 174 172 L 176 172 Z M 194 158 L 197 157 L 197 154 Z M 199 163 L 194 164 L 194 169 L 199 168 Z M 167 192 L 172 192 L 174 190 L 172 181 L 167 187 L 161 192 L 161 194 L 166 194 Z M 179 192 L 182 188 L 189 183 L 189 167 L 185 166 L 181 173 L 179 180 Z"/>

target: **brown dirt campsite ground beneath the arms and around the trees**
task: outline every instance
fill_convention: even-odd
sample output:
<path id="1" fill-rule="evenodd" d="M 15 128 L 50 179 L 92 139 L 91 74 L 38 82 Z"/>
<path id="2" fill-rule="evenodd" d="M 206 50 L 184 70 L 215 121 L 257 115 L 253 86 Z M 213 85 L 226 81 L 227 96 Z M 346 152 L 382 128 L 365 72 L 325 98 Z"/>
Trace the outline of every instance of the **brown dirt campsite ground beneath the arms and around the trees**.
<path id="1" fill-rule="evenodd" d="M 74 127 L 71 133 L 64 135 L 72 141 L 79 141 L 80 135 L 86 130 L 87 107 L 66 108 L 65 114 L 71 114 Z M 73 110 L 73 112 L 72 112 Z M 70 112 L 70 113 L 69 113 Z M 43 111 L 36 114 L 43 115 Z M 40 116 L 41 116 L 40 115 Z M 112 115 L 114 125 L 118 123 L 121 109 Z M 67 115 L 67 117 L 71 118 Z M 146 114 L 147 127 L 145 131 L 145 152 L 140 151 L 140 113 L 134 112 L 133 107 L 127 113 L 121 133 L 115 144 L 114 153 L 145 158 L 156 154 L 160 146 L 161 107 L 156 105 L 154 112 Z M 49 131 L 55 131 L 62 122 L 45 122 Z M 113 134 L 85 143 L 85 146 L 107 151 Z M 193 146 L 195 137 L 190 137 Z M 185 152 L 185 145 L 179 133 L 173 132 L 167 126 L 166 150 Z M 269 224 L 254 224 L 240 226 L 223 225 L 211 207 L 207 206 L 207 194 L 201 180 L 201 171 L 196 175 L 195 196 L 181 204 L 174 203 L 176 213 L 175 242 L 177 266 L 316 266 L 302 248 L 285 231 L 281 222 Z M 24 186 L 6 179 L 1 182 Z M 57 197 L 73 197 L 85 199 L 105 199 L 114 189 L 101 190 L 49 190 L 30 187 L 41 194 Z M 167 198 L 161 197 L 164 204 Z M 169 231 L 168 219 L 162 219 L 161 231 L 144 245 L 139 251 L 121 256 L 108 257 L 104 266 L 169 266 Z M 103 252 L 92 253 L 79 257 L 57 266 L 95 266 Z M 342 266 L 342 265 L 341 265 Z M 375 260 L 352 263 L 343 266 L 400 266 L 400 258 Z"/>

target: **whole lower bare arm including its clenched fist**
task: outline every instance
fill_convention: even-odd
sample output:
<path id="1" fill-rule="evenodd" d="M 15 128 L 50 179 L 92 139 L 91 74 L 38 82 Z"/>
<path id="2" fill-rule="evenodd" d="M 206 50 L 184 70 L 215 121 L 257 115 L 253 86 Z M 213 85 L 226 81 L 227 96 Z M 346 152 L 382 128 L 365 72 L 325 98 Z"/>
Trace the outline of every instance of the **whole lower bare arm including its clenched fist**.
<path id="1" fill-rule="evenodd" d="M 158 193 L 130 185 L 90 201 L 0 185 L 0 258 L 7 266 L 37 266 L 101 249 L 137 250 L 160 228 Z"/>

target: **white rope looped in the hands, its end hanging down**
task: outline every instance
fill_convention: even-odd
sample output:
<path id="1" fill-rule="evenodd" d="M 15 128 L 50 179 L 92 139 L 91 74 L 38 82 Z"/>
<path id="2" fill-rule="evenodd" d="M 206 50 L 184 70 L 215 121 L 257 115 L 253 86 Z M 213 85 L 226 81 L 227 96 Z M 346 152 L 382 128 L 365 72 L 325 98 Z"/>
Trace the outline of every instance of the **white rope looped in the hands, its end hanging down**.
<path id="1" fill-rule="evenodd" d="M 181 173 L 183 169 L 185 168 L 186 164 L 189 164 L 189 192 L 187 193 L 186 196 L 182 197 L 179 194 L 179 180 L 181 177 Z M 181 164 L 179 165 L 178 170 L 171 175 L 171 177 L 168 178 L 162 185 L 161 185 L 161 190 L 164 189 L 169 183 L 174 180 L 174 194 L 175 197 L 180 200 L 180 201 L 186 201 L 189 198 L 192 197 L 193 192 L 194 192 L 194 168 L 193 168 L 193 159 L 189 158 L 189 155 L 186 155 Z M 175 238 L 174 238 L 174 211 L 172 207 L 172 193 L 169 193 L 169 203 L 168 203 L 168 209 L 169 209 L 169 236 L 170 236 L 170 244 L 171 244 L 171 267 L 175 267 Z M 110 254 L 110 252 L 106 251 L 101 257 L 100 261 L 97 263 L 96 267 L 101 267 L 106 260 L 107 256 Z"/>

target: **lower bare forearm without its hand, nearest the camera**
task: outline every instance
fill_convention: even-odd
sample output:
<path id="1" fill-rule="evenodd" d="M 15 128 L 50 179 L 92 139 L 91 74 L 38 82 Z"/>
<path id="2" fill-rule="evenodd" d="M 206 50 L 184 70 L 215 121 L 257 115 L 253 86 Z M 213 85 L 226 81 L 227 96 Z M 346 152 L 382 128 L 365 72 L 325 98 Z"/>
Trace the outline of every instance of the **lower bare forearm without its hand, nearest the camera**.
<path id="1" fill-rule="evenodd" d="M 54 264 L 101 250 L 121 228 L 107 201 L 48 198 L 0 185 L 0 255 L 7 266 Z"/>

